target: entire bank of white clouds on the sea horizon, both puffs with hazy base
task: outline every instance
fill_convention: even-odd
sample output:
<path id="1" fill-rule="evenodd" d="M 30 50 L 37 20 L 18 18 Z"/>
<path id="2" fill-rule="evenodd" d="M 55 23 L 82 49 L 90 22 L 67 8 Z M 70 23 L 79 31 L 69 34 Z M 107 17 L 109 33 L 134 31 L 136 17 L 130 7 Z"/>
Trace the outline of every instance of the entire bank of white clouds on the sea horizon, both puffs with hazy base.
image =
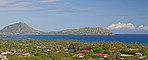
<path id="1" fill-rule="evenodd" d="M 117 24 L 111 24 L 107 27 L 107 29 L 111 30 L 113 33 L 148 33 L 148 26 L 140 25 L 139 27 L 135 27 L 134 24 L 121 22 Z"/>

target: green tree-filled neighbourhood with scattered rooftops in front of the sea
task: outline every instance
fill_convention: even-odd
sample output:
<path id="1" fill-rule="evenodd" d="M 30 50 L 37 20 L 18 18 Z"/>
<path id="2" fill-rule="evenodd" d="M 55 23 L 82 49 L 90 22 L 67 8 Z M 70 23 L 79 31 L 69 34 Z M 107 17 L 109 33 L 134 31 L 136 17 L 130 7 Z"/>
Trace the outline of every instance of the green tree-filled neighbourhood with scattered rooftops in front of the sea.
<path id="1" fill-rule="evenodd" d="M 137 42 L 126 44 L 119 41 L 0 39 L 0 53 L 9 60 L 138 60 L 140 57 L 147 60 L 148 46 Z"/>

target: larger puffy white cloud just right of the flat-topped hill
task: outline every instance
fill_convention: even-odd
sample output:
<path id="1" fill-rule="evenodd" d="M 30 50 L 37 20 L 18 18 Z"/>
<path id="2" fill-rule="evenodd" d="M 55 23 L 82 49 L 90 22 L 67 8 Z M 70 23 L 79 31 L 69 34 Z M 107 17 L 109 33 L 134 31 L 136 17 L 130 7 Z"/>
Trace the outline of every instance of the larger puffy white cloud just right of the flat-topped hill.
<path id="1" fill-rule="evenodd" d="M 112 30 L 118 30 L 118 29 L 127 29 L 127 30 L 134 30 L 135 29 L 135 26 L 131 23 L 118 23 L 118 24 L 112 24 L 112 25 L 109 25 L 107 27 L 108 29 L 112 29 Z"/>

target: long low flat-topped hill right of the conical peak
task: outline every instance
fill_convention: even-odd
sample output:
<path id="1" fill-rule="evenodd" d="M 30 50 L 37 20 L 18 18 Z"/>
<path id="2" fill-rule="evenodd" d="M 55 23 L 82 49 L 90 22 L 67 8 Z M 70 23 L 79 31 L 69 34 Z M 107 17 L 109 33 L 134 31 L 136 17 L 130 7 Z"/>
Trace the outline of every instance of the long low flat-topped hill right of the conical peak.
<path id="1" fill-rule="evenodd" d="M 51 35 L 114 35 L 112 32 L 105 28 L 80 28 L 80 29 L 69 29 L 58 32 L 50 32 Z"/>

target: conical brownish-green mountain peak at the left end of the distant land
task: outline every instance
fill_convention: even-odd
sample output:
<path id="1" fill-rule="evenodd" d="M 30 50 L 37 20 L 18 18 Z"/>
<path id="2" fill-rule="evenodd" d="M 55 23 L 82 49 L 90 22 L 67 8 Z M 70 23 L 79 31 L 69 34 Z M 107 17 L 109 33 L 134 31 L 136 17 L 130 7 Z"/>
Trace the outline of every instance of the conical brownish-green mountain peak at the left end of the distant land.
<path id="1" fill-rule="evenodd" d="M 0 30 L 2 33 L 11 33 L 11 34 L 29 34 L 29 33 L 37 33 L 39 31 L 33 29 L 23 22 L 19 22 L 16 24 L 12 24 L 6 26 L 4 29 Z"/>

